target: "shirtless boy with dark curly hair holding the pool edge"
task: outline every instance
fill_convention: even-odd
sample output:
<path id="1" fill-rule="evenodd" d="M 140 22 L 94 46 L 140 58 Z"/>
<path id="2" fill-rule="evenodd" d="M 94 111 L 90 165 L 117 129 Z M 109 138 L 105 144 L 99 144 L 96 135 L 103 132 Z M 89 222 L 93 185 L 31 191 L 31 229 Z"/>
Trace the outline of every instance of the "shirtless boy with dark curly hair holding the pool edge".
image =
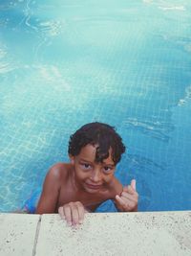
<path id="1" fill-rule="evenodd" d="M 122 187 L 115 177 L 125 147 L 115 128 L 90 123 L 69 141 L 70 163 L 57 163 L 47 174 L 36 214 L 59 213 L 68 224 L 82 223 L 85 212 L 113 199 L 123 212 L 138 210 L 136 180 Z"/>

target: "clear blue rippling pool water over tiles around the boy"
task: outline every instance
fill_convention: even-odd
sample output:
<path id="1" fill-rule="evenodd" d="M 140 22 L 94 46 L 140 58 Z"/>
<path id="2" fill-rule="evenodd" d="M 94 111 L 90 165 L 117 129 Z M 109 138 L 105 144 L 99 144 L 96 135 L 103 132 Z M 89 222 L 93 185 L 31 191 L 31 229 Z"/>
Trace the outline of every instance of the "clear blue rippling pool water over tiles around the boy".
<path id="1" fill-rule="evenodd" d="M 2 0 L 0 211 L 93 121 L 128 147 L 117 177 L 137 179 L 140 211 L 191 209 L 190 24 L 188 0 Z"/>

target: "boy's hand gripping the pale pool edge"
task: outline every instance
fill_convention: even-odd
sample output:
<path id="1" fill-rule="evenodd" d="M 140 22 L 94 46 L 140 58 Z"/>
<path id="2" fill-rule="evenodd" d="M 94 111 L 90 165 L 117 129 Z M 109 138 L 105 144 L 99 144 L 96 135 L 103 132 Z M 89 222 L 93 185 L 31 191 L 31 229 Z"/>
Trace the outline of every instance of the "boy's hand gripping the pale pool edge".
<path id="1" fill-rule="evenodd" d="M 58 208 L 60 217 L 69 225 L 81 224 L 87 212 L 80 201 L 72 201 Z"/>

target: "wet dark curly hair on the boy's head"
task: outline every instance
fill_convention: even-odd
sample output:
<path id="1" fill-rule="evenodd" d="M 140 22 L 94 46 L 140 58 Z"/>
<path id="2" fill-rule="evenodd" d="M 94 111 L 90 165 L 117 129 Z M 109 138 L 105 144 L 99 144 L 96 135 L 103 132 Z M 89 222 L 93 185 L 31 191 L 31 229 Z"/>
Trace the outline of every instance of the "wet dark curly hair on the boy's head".
<path id="1" fill-rule="evenodd" d="M 102 162 L 108 158 L 109 150 L 112 148 L 112 158 L 115 165 L 117 165 L 121 154 L 125 151 L 125 146 L 116 129 L 98 122 L 77 129 L 70 137 L 68 152 L 73 156 L 77 155 L 88 144 L 97 145 L 96 162 Z"/>

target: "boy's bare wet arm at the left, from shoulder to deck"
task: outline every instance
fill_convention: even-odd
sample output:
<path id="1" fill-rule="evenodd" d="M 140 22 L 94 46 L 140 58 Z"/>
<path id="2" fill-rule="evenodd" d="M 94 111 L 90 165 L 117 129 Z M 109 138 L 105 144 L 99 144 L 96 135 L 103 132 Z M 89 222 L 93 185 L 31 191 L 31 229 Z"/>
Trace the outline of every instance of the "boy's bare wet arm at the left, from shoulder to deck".
<path id="1" fill-rule="evenodd" d="M 60 171 L 55 166 L 46 175 L 36 214 L 54 213 L 60 187 Z"/>

